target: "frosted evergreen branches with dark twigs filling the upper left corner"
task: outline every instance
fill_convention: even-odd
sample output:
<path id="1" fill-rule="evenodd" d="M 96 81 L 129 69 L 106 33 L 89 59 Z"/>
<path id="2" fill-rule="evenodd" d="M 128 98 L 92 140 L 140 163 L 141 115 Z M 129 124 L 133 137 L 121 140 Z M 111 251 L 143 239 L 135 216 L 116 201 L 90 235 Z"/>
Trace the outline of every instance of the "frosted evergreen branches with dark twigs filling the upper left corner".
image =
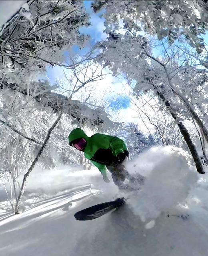
<path id="1" fill-rule="evenodd" d="M 89 17 L 82 1 L 28 1 L 0 34 L 0 76 L 18 83 L 48 65 L 68 68 L 64 52 L 84 47 L 84 25 Z"/>

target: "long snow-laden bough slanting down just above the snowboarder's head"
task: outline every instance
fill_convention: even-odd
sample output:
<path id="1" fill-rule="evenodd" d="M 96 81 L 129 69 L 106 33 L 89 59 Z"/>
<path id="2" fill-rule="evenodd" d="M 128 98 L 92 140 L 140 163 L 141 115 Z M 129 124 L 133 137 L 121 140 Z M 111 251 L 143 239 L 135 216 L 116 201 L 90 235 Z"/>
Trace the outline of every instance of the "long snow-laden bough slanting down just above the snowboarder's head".
<path id="1" fill-rule="evenodd" d="M 14 83 L 2 81 L 2 85 L 12 90 L 18 91 L 24 95 L 30 95 L 34 100 L 44 107 L 51 107 L 54 111 L 62 111 L 65 114 L 77 119 L 79 124 L 93 125 L 98 127 L 112 127 L 115 122 L 109 119 L 109 114 L 104 111 L 104 108 L 98 107 L 91 109 L 78 100 L 72 100 L 59 93 L 54 93 L 40 86 L 38 83 L 33 83 L 30 90 L 28 88 L 19 87 Z"/>

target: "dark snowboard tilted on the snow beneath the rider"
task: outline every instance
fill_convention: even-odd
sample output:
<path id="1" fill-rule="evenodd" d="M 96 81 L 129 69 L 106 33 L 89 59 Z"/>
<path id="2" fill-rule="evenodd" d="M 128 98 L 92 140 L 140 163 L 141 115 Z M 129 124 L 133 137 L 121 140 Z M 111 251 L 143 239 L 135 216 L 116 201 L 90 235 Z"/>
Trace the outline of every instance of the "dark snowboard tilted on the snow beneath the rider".
<path id="1" fill-rule="evenodd" d="M 125 204 L 124 198 L 117 198 L 114 201 L 96 204 L 74 214 L 76 220 L 94 220 Z"/>

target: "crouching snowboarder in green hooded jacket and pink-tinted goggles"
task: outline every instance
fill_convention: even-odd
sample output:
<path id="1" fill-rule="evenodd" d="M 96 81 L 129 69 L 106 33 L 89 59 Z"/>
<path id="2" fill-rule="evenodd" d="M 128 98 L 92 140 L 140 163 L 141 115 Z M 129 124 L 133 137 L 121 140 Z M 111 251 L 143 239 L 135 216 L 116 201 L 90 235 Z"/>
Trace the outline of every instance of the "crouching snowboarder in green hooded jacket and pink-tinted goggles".
<path id="1" fill-rule="evenodd" d="M 131 178 L 123 165 L 128 157 L 128 150 L 122 139 L 101 133 L 88 137 L 80 128 L 72 130 L 68 139 L 70 146 L 83 151 L 84 156 L 98 167 L 105 182 L 110 182 L 106 167 L 114 183 L 120 188 L 125 178 Z"/>

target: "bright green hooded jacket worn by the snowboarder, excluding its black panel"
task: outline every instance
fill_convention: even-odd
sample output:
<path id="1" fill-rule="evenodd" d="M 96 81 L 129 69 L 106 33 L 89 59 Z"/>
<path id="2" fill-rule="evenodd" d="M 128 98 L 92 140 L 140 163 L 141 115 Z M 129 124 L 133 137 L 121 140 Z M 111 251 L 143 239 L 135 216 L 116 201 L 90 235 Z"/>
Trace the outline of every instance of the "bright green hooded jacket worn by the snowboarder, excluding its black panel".
<path id="1" fill-rule="evenodd" d="M 104 135 L 96 133 L 91 137 L 88 137 L 84 131 L 80 128 L 76 128 L 71 131 L 68 139 L 69 143 L 72 143 L 75 139 L 84 138 L 87 141 L 86 148 L 84 149 L 84 156 L 89 159 L 102 174 L 106 173 L 106 165 L 93 161 L 92 158 L 98 149 L 110 149 L 112 154 L 116 157 L 119 153 L 128 151 L 126 145 L 122 139 L 113 137 L 110 135 Z"/>

